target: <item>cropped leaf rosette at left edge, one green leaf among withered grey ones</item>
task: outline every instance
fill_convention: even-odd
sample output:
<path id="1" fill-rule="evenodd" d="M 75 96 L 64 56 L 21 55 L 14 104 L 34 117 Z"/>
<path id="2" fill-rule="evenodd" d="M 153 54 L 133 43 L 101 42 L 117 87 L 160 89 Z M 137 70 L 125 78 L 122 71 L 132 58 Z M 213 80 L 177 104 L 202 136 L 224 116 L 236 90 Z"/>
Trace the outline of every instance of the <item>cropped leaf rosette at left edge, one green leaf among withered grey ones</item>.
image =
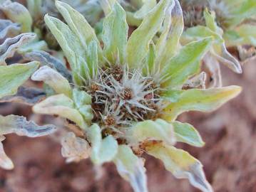
<path id="1" fill-rule="evenodd" d="M 9 26 L 9 30 L 11 28 Z M 9 30 L 0 31 L 0 36 L 4 36 Z M 14 64 L 8 62 L 9 65 L 6 64 L 6 60 L 12 58 L 17 49 L 33 41 L 35 37 L 34 33 L 21 33 L 18 36 L 6 38 L 0 44 L 0 107 L 4 105 L 2 102 L 22 102 L 27 105 L 34 105 L 45 97 L 42 90 L 21 86 L 39 68 L 38 62 Z M 5 139 L 5 134 L 15 133 L 27 137 L 41 137 L 51 134 L 55 130 L 56 127 L 53 125 L 39 126 L 26 120 L 26 117 L 13 114 L 5 117 L 0 115 L 0 166 L 4 169 L 14 168 L 11 159 L 4 152 L 2 141 Z"/>

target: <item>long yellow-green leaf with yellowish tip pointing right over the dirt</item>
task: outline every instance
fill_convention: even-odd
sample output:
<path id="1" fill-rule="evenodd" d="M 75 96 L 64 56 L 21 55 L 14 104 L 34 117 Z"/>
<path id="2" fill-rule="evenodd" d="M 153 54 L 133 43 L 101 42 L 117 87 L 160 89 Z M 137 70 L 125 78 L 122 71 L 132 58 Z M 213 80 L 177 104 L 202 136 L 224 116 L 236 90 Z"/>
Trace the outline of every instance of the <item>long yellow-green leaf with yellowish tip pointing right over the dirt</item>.
<path id="1" fill-rule="evenodd" d="M 208 90 L 178 90 L 178 92 L 170 90 L 165 93 L 164 97 L 166 100 L 173 102 L 165 108 L 163 119 L 171 121 L 176 119 L 178 114 L 190 110 L 212 112 L 228 100 L 236 97 L 240 92 L 241 87 L 238 86 L 210 88 Z M 172 97 L 175 97 L 175 100 Z"/>

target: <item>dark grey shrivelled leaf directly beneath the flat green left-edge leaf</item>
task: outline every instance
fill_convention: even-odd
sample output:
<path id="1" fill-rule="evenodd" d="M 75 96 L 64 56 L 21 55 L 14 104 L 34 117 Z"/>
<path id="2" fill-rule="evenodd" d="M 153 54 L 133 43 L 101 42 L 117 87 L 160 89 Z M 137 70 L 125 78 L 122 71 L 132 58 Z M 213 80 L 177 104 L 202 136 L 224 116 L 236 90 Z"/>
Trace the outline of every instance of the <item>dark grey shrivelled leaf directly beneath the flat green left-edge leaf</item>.
<path id="1" fill-rule="evenodd" d="M 35 105 L 43 100 L 46 93 L 43 90 L 34 87 L 19 87 L 15 95 L 6 96 L 0 99 L 0 102 L 21 102 L 26 105 Z"/>

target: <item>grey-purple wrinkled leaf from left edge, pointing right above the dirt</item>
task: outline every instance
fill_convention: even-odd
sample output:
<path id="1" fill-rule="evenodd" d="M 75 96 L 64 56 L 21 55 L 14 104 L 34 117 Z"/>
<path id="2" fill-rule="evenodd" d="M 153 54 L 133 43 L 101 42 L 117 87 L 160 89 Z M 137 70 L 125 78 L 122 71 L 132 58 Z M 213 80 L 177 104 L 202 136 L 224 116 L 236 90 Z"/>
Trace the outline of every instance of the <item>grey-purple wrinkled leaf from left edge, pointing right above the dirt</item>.
<path id="1" fill-rule="evenodd" d="M 39 126 L 34 122 L 27 121 L 26 117 L 14 114 L 6 117 L 0 115 L 0 128 L 0 134 L 15 133 L 26 137 L 41 137 L 56 131 L 56 127 L 52 124 Z"/>

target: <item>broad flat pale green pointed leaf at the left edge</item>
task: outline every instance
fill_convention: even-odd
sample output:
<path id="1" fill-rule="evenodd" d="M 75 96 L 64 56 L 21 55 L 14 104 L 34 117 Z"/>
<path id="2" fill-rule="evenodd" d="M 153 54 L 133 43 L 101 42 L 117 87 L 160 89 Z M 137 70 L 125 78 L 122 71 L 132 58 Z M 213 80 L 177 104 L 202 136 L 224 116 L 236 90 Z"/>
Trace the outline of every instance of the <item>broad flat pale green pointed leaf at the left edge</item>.
<path id="1" fill-rule="evenodd" d="M 38 62 L 0 66 L 0 98 L 16 94 L 38 67 Z"/>

